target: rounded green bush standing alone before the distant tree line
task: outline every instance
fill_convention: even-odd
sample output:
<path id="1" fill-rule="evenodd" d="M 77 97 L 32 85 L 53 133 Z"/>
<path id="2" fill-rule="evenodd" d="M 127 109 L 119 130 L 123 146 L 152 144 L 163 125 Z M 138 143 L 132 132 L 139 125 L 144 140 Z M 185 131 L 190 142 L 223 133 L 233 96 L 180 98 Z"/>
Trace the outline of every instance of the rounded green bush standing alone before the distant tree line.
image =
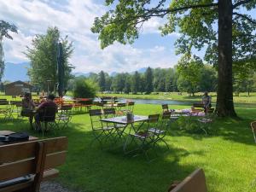
<path id="1" fill-rule="evenodd" d="M 98 85 L 90 80 L 76 79 L 74 81 L 73 96 L 77 98 L 94 98 Z"/>

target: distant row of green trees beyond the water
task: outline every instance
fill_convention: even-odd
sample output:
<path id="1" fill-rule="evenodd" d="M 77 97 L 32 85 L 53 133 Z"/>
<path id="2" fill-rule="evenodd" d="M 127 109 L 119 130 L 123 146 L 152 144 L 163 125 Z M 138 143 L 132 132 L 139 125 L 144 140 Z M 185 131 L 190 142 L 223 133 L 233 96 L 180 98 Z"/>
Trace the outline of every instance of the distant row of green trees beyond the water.
<path id="1" fill-rule="evenodd" d="M 193 73 L 189 73 L 190 68 L 194 68 Z M 217 87 L 217 73 L 210 65 L 191 65 L 189 69 L 178 65 L 173 68 L 148 67 L 144 73 L 116 73 L 114 76 L 101 71 L 90 73 L 87 79 L 96 82 L 102 92 L 125 94 L 179 91 L 194 95 L 198 91 L 216 91 Z M 72 84 L 73 81 L 69 85 Z"/>

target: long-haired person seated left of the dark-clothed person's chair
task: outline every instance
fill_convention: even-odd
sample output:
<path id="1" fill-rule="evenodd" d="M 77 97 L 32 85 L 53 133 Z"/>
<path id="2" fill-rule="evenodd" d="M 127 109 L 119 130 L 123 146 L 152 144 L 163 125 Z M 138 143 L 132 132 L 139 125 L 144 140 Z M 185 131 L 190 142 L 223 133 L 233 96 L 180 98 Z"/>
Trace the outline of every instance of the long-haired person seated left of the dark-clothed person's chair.
<path id="1" fill-rule="evenodd" d="M 33 110 L 36 107 L 35 103 L 32 100 L 31 93 L 25 93 L 24 98 L 22 99 L 22 109 L 21 109 L 21 116 L 29 117 L 29 123 L 32 126 L 33 120 Z"/>

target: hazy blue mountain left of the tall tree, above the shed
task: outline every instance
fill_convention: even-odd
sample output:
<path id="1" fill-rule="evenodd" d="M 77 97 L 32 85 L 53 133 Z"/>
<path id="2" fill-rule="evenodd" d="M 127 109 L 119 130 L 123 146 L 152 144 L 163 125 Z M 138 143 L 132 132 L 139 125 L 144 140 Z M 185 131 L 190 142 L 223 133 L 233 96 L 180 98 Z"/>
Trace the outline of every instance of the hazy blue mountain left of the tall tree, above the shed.
<path id="1" fill-rule="evenodd" d="M 6 62 L 5 69 L 3 73 L 3 81 L 28 81 L 27 68 L 29 67 L 29 62 L 12 63 Z"/>

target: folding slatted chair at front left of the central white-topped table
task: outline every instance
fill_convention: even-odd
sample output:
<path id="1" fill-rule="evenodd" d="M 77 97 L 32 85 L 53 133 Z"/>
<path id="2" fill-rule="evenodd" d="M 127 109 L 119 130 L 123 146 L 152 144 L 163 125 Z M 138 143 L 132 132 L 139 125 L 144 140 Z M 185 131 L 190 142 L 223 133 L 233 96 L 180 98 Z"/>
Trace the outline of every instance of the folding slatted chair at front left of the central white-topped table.
<path id="1" fill-rule="evenodd" d="M 108 140 L 109 137 L 113 136 L 113 133 L 115 132 L 114 126 L 106 126 L 104 127 L 102 124 L 102 110 L 101 109 L 90 109 L 90 124 L 91 124 L 91 130 L 94 136 L 94 139 L 91 141 L 93 143 L 94 141 L 98 141 L 101 146 L 103 140 Z"/>

